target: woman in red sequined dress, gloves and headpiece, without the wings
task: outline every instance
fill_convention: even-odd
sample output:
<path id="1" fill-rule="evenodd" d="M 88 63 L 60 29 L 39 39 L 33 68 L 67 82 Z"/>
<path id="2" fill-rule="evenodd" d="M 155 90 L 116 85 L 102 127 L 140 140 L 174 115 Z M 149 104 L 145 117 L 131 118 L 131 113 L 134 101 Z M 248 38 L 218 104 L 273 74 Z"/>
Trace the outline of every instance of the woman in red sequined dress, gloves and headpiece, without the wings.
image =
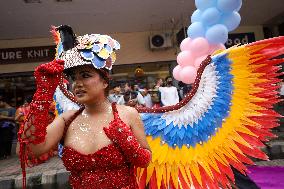
<path id="1" fill-rule="evenodd" d="M 99 34 L 75 37 L 69 26 L 57 27 L 53 33 L 58 39 L 57 59 L 36 68 L 37 91 L 18 134 L 22 167 L 28 158 L 61 141 L 73 188 L 138 188 L 134 167 L 146 167 L 151 160 L 143 123 L 134 108 L 107 100 L 107 70 L 119 43 Z M 71 78 L 81 108 L 48 124 L 48 107 L 63 71 Z"/>

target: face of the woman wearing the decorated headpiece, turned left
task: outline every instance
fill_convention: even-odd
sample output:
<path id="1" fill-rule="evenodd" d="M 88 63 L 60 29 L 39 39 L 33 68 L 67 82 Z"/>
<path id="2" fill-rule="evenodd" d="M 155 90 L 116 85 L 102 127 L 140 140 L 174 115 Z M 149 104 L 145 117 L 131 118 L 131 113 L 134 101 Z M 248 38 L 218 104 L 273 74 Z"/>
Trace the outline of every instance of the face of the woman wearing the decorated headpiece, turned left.
<path id="1" fill-rule="evenodd" d="M 72 92 L 81 104 L 92 104 L 105 97 L 107 82 L 92 66 L 80 66 L 70 74 Z"/>

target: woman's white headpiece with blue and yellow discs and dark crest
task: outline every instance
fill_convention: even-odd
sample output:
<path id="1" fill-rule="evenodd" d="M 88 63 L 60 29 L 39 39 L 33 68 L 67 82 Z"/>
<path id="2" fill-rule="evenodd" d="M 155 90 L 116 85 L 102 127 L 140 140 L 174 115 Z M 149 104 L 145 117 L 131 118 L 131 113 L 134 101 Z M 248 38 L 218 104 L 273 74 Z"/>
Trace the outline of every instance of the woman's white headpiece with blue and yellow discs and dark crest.
<path id="1" fill-rule="evenodd" d="M 64 60 L 64 69 L 90 64 L 97 69 L 112 69 L 116 60 L 115 50 L 120 44 L 108 35 L 86 34 L 76 36 L 70 26 L 53 27 L 57 44 L 56 59 Z"/>

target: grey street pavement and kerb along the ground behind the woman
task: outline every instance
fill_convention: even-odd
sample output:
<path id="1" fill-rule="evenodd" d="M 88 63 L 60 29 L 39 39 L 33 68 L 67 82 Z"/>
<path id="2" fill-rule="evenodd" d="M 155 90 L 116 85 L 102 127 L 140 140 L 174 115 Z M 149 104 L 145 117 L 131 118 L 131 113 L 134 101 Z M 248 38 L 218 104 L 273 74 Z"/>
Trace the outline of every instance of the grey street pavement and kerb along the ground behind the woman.
<path id="1" fill-rule="evenodd" d="M 281 166 L 284 167 L 284 159 L 276 159 L 271 161 L 257 161 L 257 166 Z M 0 161 L 0 189 L 13 189 L 22 187 L 22 175 L 19 159 L 14 156 L 12 158 Z M 35 186 L 46 185 L 49 188 L 53 183 L 68 187 L 69 173 L 64 168 L 60 158 L 53 157 L 45 163 L 38 166 L 27 168 L 28 188 L 35 189 Z M 40 189 L 47 187 L 40 187 Z M 62 187 L 59 187 L 62 188 Z"/>

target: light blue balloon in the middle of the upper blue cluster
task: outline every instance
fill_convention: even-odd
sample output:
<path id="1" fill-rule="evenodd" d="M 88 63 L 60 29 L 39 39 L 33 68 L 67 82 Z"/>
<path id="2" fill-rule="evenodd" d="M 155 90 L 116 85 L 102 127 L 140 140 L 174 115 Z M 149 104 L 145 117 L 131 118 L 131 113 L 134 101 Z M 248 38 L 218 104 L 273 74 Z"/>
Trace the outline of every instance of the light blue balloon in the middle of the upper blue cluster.
<path id="1" fill-rule="evenodd" d="M 201 16 L 201 20 L 206 26 L 216 24 L 220 20 L 220 18 L 221 12 L 215 7 L 206 9 Z"/>

